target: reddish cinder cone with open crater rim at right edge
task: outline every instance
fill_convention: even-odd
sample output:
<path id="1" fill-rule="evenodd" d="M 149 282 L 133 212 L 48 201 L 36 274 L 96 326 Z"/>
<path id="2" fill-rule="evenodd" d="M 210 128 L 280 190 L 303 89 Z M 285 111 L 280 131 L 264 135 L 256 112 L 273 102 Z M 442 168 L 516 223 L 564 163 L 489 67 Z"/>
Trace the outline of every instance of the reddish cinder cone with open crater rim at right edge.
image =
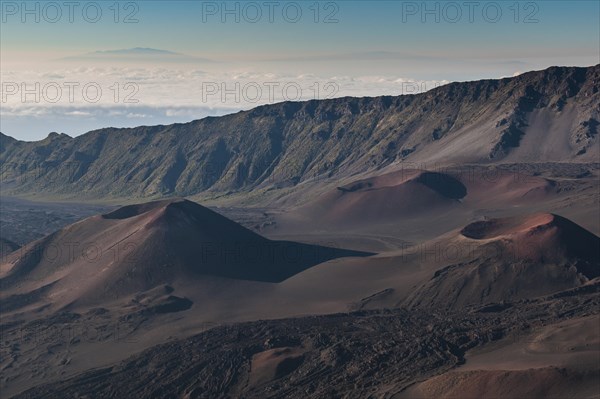
<path id="1" fill-rule="evenodd" d="M 437 270 L 411 294 L 408 306 L 458 308 L 531 298 L 600 276 L 600 238 L 552 214 L 474 222 L 446 246 L 467 256 Z"/>

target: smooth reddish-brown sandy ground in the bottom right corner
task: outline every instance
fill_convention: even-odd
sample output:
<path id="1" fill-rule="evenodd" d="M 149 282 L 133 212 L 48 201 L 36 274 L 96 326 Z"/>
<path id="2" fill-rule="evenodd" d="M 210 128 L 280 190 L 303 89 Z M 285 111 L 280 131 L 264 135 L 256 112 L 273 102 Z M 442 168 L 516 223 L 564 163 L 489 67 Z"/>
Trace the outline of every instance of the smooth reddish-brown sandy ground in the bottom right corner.
<path id="1" fill-rule="evenodd" d="M 457 369 L 395 398 L 598 398 L 597 315 L 543 327 L 466 356 Z"/>

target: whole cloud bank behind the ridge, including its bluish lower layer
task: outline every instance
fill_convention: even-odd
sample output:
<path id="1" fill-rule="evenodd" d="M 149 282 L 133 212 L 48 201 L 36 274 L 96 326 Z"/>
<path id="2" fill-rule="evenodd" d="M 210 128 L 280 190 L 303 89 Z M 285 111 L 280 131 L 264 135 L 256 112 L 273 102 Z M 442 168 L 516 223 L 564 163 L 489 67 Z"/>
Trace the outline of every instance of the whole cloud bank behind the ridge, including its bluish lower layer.
<path id="1" fill-rule="evenodd" d="M 17 137 L 27 132 L 28 138 L 45 137 L 46 129 L 78 135 L 106 126 L 187 122 L 287 100 L 414 94 L 447 83 L 391 75 L 70 65 L 3 68 L 0 81 L 2 129 Z"/>

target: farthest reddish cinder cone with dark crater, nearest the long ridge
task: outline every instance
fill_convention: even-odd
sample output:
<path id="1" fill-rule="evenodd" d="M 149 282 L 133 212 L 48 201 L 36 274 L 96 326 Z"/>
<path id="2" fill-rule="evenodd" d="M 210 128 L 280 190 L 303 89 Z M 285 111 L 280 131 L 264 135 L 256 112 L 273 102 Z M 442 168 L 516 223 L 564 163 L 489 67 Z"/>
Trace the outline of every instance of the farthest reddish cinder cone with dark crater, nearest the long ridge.
<path id="1" fill-rule="evenodd" d="M 508 171 L 487 175 L 468 168 L 455 173 L 401 169 L 327 191 L 282 220 L 304 220 L 309 228 L 315 223 L 329 228 L 416 219 L 421 229 L 422 224 L 435 223 L 436 214 L 532 204 L 553 198 L 557 191 L 550 180 Z"/>

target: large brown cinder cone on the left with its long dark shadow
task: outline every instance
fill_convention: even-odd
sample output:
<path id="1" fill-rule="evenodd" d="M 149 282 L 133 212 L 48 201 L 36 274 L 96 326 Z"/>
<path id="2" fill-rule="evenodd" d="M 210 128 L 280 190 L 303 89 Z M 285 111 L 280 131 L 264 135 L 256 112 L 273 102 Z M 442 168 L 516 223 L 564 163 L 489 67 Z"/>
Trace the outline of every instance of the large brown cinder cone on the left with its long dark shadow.
<path id="1" fill-rule="evenodd" d="M 0 283 L 4 299 L 52 284 L 51 302 L 95 303 L 204 276 L 278 282 L 364 255 L 267 240 L 196 203 L 167 200 L 94 216 L 29 244 L 2 263 Z"/>

